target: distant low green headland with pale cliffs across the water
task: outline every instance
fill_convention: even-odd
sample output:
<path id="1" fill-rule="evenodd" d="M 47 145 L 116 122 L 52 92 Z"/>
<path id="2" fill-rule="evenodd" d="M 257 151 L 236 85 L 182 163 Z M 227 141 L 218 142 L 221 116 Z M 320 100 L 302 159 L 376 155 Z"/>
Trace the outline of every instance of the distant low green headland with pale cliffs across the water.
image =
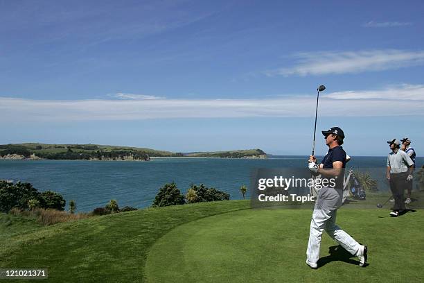
<path id="1" fill-rule="evenodd" d="M 151 157 L 215 157 L 264 159 L 267 153 L 256 148 L 238 151 L 173 153 L 133 146 L 100 144 L 3 144 L 0 160 L 108 160 L 149 161 Z"/>

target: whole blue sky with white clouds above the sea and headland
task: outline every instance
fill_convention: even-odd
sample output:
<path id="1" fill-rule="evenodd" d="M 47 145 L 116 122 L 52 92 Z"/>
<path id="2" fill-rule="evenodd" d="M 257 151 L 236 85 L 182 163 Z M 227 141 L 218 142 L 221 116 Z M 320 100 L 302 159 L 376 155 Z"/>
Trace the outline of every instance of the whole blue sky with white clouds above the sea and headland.
<path id="1" fill-rule="evenodd" d="M 424 3 L 351 2 L 0 1 L 0 144 L 306 155 L 325 84 L 349 153 L 422 156 Z"/>

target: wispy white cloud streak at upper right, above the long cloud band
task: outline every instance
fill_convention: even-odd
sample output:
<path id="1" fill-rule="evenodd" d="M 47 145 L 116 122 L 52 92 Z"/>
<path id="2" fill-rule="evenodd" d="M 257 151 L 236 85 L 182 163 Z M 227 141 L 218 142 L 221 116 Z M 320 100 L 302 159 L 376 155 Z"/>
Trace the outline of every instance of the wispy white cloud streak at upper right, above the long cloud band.
<path id="1" fill-rule="evenodd" d="M 424 64 L 424 51 L 396 49 L 352 52 L 305 52 L 294 55 L 297 65 L 265 71 L 267 76 L 307 76 L 382 71 Z"/>

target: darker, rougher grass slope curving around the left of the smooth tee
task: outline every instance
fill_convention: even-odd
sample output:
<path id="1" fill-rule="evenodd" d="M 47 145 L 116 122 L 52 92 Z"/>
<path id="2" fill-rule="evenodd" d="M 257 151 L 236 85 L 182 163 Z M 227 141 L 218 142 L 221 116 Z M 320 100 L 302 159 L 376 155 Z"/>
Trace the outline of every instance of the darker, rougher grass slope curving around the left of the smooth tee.
<path id="1" fill-rule="evenodd" d="M 141 282 L 148 251 L 164 234 L 199 218 L 247 208 L 248 201 L 197 203 L 39 228 L 8 237 L 0 266 L 48 268 L 51 282 Z"/>

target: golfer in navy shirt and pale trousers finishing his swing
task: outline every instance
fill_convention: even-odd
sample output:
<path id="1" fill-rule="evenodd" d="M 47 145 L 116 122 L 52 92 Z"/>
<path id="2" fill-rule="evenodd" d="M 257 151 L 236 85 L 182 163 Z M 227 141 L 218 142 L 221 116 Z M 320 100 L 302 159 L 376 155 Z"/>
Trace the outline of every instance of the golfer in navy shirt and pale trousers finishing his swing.
<path id="1" fill-rule="evenodd" d="M 321 235 L 326 230 L 327 234 L 337 241 L 340 246 L 359 258 L 360 266 L 364 266 L 367 258 L 367 247 L 355 241 L 335 224 L 337 208 L 342 205 L 343 175 L 346 165 L 346 152 L 342 148 L 344 132 L 341 128 L 333 127 L 330 130 L 323 130 L 322 134 L 326 139 L 328 153 L 319 166 L 315 156 L 311 155 L 308 160 L 308 167 L 312 173 L 321 174 L 322 178 L 335 180 L 333 182 L 335 185 L 322 187 L 319 190 L 312 213 L 312 220 L 310 221 L 306 264 L 310 268 L 318 267 Z"/>

